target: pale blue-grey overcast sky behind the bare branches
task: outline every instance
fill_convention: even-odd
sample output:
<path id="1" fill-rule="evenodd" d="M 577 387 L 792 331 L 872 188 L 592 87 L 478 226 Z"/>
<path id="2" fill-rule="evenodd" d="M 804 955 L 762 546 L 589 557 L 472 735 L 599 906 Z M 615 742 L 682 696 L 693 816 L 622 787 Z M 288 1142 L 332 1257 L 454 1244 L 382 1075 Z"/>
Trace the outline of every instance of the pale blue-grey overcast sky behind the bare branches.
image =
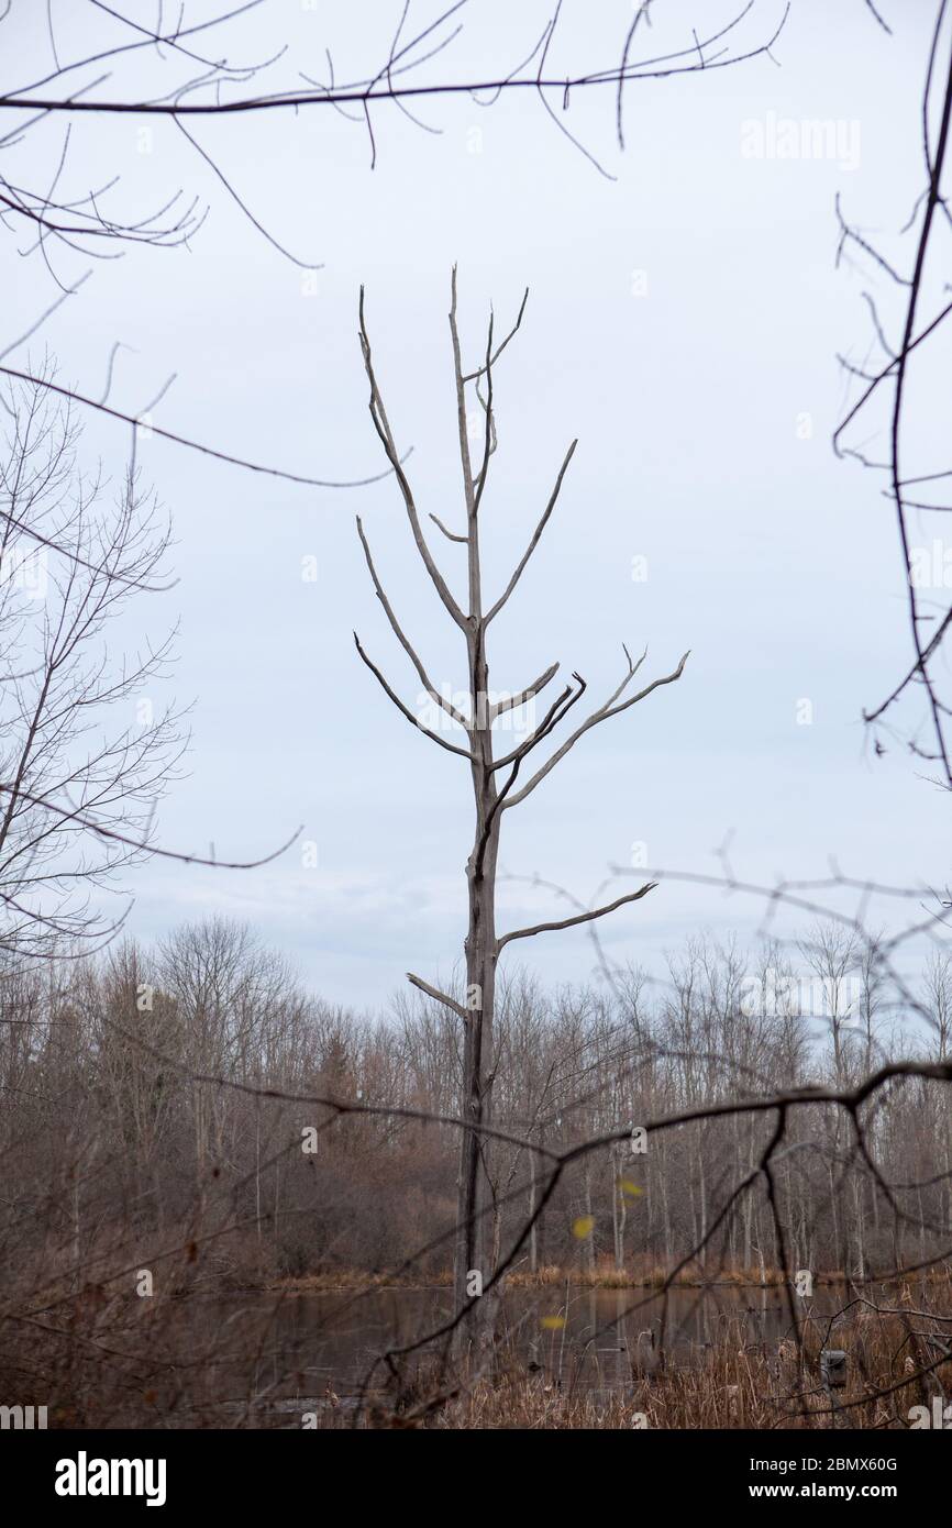
<path id="1" fill-rule="evenodd" d="M 20 5 L 18 81 L 50 67 L 40 9 Z M 142 9 L 151 20 L 154 8 Z M 631 8 L 599 6 L 597 32 L 593 9 L 567 0 L 555 73 L 617 55 Z M 99 34 L 102 46 L 116 40 L 108 17 L 58 11 L 63 57 Z M 507 814 L 501 862 L 513 877 L 538 874 L 587 902 L 610 865 L 631 862 L 633 845 L 652 866 L 712 871 L 727 833 L 733 868 L 750 880 L 822 876 L 830 856 L 894 883 L 944 877 L 947 801 L 900 749 L 874 759 L 860 721 L 908 659 L 894 521 L 880 484 L 830 446 L 847 397 L 836 353 L 868 353 L 860 293 L 877 292 L 886 312 L 891 301 L 868 266 L 834 269 L 834 197 L 902 252 L 892 232 L 921 182 L 929 14 L 886 0 L 883 11 L 891 38 L 862 0 L 798 0 L 772 57 L 631 84 L 625 153 L 613 92 L 578 95 L 567 121 L 608 174 L 532 92 L 492 110 L 466 96 L 419 102 L 439 134 L 380 107 L 374 168 L 365 127 L 330 110 L 189 127 L 267 231 L 321 261 L 313 278 L 260 237 L 173 122 L 151 136 L 130 118 L 75 130 L 73 189 L 121 173 L 116 208 L 148 209 L 183 186 L 209 214 L 188 249 L 96 264 L 29 353 L 46 342 L 61 376 L 98 396 L 121 341 L 110 400 L 138 413 L 176 373 L 154 422 L 223 451 L 313 477 L 382 469 L 356 341 L 364 283 L 417 501 L 458 526 L 449 269 L 458 263 L 471 364 L 489 304 L 504 324 L 530 287 L 495 377 L 498 451 L 483 507 L 491 588 L 521 553 L 567 443 L 579 446 L 494 626 L 492 686 L 518 689 L 559 660 L 597 701 L 622 675 L 622 643 L 648 645 L 646 677 L 688 648 L 691 659 L 680 683 L 588 733 Z M 781 12 L 758 5 L 737 46 L 763 41 Z M 193 20 L 211 14 L 189 9 Z M 267 5 L 234 24 L 228 52 L 249 60 L 287 40 L 325 79 L 329 46 L 338 78 L 359 76 L 382 63 L 399 14 L 391 3 Z M 472 0 L 463 34 L 428 69 L 506 73 L 547 15 L 546 5 Z M 715 31 L 729 15 L 709 0 L 657 0 L 639 47 L 683 46 L 692 24 Z M 9 78 L 8 60 L 3 70 Z M 112 86 L 131 96 L 160 78 L 133 55 Z M 275 79 L 287 79 L 281 66 Z M 784 119 L 798 130 L 834 122 L 834 151 L 778 157 Z M 52 174 L 61 131 L 31 138 L 20 173 L 29 163 L 38 179 Z M 5 290 L 17 293 L 6 344 L 57 292 L 38 260 L 17 258 L 11 235 L 2 249 Z M 58 270 L 75 280 L 87 264 L 76 257 Z M 93 420 L 87 445 L 119 472 L 128 431 Z M 359 512 L 436 683 L 463 685 L 460 634 L 419 567 L 396 484 L 298 487 L 156 439 L 139 460 L 174 520 L 179 582 L 136 607 L 130 639 L 180 619 L 173 692 L 194 703 L 188 773 L 162 807 L 159 840 L 197 851 L 214 840 L 219 856 L 254 857 L 304 824 L 316 866 L 300 847 L 249 872 L 153 862 L 134 872 L 130 929 L 151 938 L 228 912 L 286 950 L 324 996 L 350 1004 L 384 1004 L 408 969 L 446 976 L 465 934 L 469 772 L 397 715 L 351 637 L 356 628 L 414 706 L 420 686 L 367 578 Z M 432 545 L 458 588 L 461 549 L 436 529 Z M 625 889 L 631 882 L 616 882 L 611 895 Z M 565 911 L 520 880 L 501 888 L 501 931 Z M 686 932 L 743 934 L 759 912 L 662 883 L 602 932 L 613 958 L 652 966 Z M 520 955 L 546 981 L 591 969 L 584 932 Z"/>

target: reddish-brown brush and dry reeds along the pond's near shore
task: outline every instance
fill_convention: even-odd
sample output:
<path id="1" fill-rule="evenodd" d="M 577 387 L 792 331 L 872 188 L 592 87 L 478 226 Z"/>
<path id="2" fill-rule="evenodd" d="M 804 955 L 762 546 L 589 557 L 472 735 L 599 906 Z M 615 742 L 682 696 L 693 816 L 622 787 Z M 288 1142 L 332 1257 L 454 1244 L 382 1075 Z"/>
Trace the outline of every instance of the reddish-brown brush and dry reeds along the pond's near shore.
<path id="1" fill-rule="evenodd" d="M 656 1322 L 649 1343 L 633 1343 L 630 1325 L 599 1348 L 562 1337 L 550 1316 L 553 1329 L 532 1348 L 524 1328 L 497 1348 L 492 1371 L 468 1360 L 443 1368 L 429 1349 L 390 1378 L 377 1366 L 359 1394 L 353 1346 L 335 1343 L 361 1335 L 361 1372 L 387 1345 L 362 1325 L 361 1288 L 333 1302 L 345 1317 L 335 1320 L 293 1294 L 206 1294 L 191 1271 L 186 1253 L 170 1280 L 176 1293 L 144 1299 L 101 1285 L 2 1299 L 6 1403 L 47 1406 L 50 1427 L 81 1429 L 892 1429 L 941 1394 L 937 1363 L 952 1335 L 946 1276 L 844 1290 L 834 1316 L 799 1303 L 799 1342 L 792 1332 L 752 1342 L 750 1323 L 723 1313 L 712 1342 L 678 1346 L 669 1331 L 662 1348 Z M 529 1309 L 544 1323 L 541 1305 Z M 824 1346 L 847 1352 L 836 1413 L 821 1383 Z"/>

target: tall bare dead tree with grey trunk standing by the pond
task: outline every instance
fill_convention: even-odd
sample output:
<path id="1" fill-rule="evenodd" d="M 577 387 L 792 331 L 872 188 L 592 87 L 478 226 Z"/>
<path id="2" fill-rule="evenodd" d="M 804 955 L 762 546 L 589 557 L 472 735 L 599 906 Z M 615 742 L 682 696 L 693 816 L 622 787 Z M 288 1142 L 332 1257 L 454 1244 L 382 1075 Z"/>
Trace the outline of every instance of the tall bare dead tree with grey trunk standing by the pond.
<path id="1" fill-rule="evenodd" d="M 364 549 L 364 556 L 367 559 L 367 567 L 370 570 L 370 578 L 373 581 L 377 599 L 380 601 L 390 626 L 406 652 L 410 662 L 413 663 L 420 683 L 423 685 L 423 692 L 436 706 L 434 717 L 439 717 L 437 730 L 428 726 L 419 714 L 406 706 L 390 681 L 384 677 L 376 663 L 367 656 L 361 646 L 361 640 L 355 633 L 355 642 L 358 652 L 371 674 L 376 677 L 385 694 L 394 703 L 397 711 L 417 727 L 425 732 L 434 743 L 437 743 L 448 753 L 454 753 L 458 758 L 466 759 L 471 776 L 472 776 L 472 796 L 474 796 L 474 837 L 472 850 L 466 862 L 466 891 L 468 891 L 468 931 L 465 941 L 466 955 L 466 992 L 463 1001 L 452 996 L 448 992 L 442 992 L 432 987 L 423 978 L 408 973 L 408 979 L 419 987 L 422 992 L 428 993 L 437 1002 L 442 1002 L 451 1013 L 454 1013 L 461 1022 L 463 1028 L 463 1096 L 460 1114 L 465 1118 L 468 1128 L 461 1132 L 461 1149 L 460 1149 L 460 1174 L 458 1174 L 458 1190 L 457 1190 L 457 1232 L 455 1232 L 455 1248 L 454 1248 L 454 1293 L 455 1293 L 455 1309 L 461 1313 L 468 1305 L 477 1303 L 474 1299 L 474 1287 L 468 1291 L 468 1277 L 471 1273 L 478 1273 L 483 1279 L 487 1274 L 486 1264 L 486 1219 L 489 1209 L 489 1184 L 486 1175 L 486 1164 L 483 1161 L 483 1146 L 484 1128 L 491 1122 L 491 1097 L 492 1097 L 492 1021 L 494 1021 L 494 1004 L 495 1004 L 495 981 L 497 981 L 497 964 L 503 949 L 513 940 L 532 938 L 536 934 L 544 934 L 555 929 L 568 929 L 581 923 L 590 923 L 594 918 L 604 917 L 607 912 L 613 912 L 616 908 L 623 906 L 630 902 L 639 902 L 652 888 L 654 882 L 645 882 L 637 891 L 633 891 L 623 897 L 617 897 L 607 906 L 593 908 L 576 914 L 575 917 L 559 918 L 550 923 L 538 923 L 532 927 L 510 929 L 506 934 L 497 932 L 495 921 L 495 888 L 497 888 L 497 865 L 500 851 L 500 834 L 504 813 L 512 807 L 518 807 L 524 802 L 546 776 L 555 769 L 555 766 L 565 758 L 565 755 L 575 747 L 575 744 L 594 726 L 607 721 L 610 717 L 617 717 L 620 712 L 628 711 L 639 701 L 645 700 L 654 689 L 662 685 L 671 685 L 674 680 L 680 678 L 685 663 L 688 660 L 688 652 L 683 654 L 678 665 L 660 678 L 651 680 L 642 689 L 633 691 L 633 681 L 642 668 L 646 657 L 646 649 L 642 652 L 637 662 L 633 662 L 625 651 L 625 672 L 620 683 L 608 695 L 608 698 L 591 711 L 584 721 L 579 721 L 562 741 L 555 747 L 544 762 L 539 762 L 529 778 L 526 779 L 527 761 L 536 753 L 536 749 L 546 743 L 565 721 L 568 714 L 575 709 L 578 701 L 585 694 L 585 681 L 579 674 L 572 675 L 572 681 L 567 683 L 556 698 L 552 701 L 542 718 L 526 732 L 526 736 L 516 743 L 515 747 L 495 753 L 494 750 L 494 724 L 509 711 L 516 711 L 532 704 L 547 685 L 555 678 L 559 665 L 552 663 L 538 678 L 532 680 L 524 689 L 515 691 L 512 694 L 504 694 L 501 698 L 494 698 L 489 689 L 489 654 L 487 654 L 487 633 L 489 626 L 500 614 L 503 607 L 512 597 L 532 553 L 535 552 L 546 526 L 552 516 L 565 472 L 568 471 L 568 463 L 575 454 L 576 442 L 573 440 L 559 471 L 555 478 L 555 486 L 549 495 L 546 507 L 541 513 L 526 552 L 520 558 L 509 582 L 503 591 L 492 599 L 483 590 L 483 567 L 481 567 L 481 550 L 480 550 L 480 513 L 483 509 L 483 500 L 486 494 L 486 483 L 489 475 L 489 461 L 497 445 L 495 431 L 495 402 L 494 402 L 494 368 L 501 356 L 501 353 L 509 345 L 510 339 L 521 325 L 523 315 L 526 310 L 526 299 L 529 293 L 523 298 L 520 313 L 515 324 L 506 333 L 501 341 L 495 339 L 494 319 L 489 319 L 489 335 L 486 342 L 486 353 L 481 365 L 472 370 L 466 370 L 461 358 L 460 335 L 457 325 L 457 283 L 455 283 L 455 267 L 452 272 L 452 298 L 449 307 L 449 332 L 452 339 L 452 361 L 454 361 L 454 376 L 455 376 L 455 403 L 457 403 L 457 425 L 458 425 L 458 448 L 460 461 L 463 468 L 463 530 L 454 530 L 443 524 L 436 515 L 429 518 L 434 521 L 437 529 L 446 536 L 452 545 L 465 547 L 466 556 L 466 599 L 463 602 L 457 601 L 455 594 L 451 591 L 449 584 L 443 578 L 440 567 L 429 549 L 429 544 L 423 535 L 423 527 L 420 524 L 420 516 L 417 510 L 417 503 L 414 498 L 413 487 L 406 477 L 403 463 L 400 460 L 400 451 L 396 442 L 394 429 L 390 423 L 390 416 L 384 405 L 384 397 L 377 382 L 377 374 L 373 364 L 370 338 L 367 333 L 367 324 L 364 316 L 364 292 L 361 290 L 361 348 L 364 353 L 364 365 L 367 368 L 367 377 L 370 382 L 370 416 L 374 423 L 374 429 L 384 446 L 384 452 L 393 474 L 400 487 L 403 498 L 403 506 L 406 509 L 406 518 L 410 521 L 410 529 L 426 568 L 429 579 L 446 608 L 451 620 L 458 626 L 465 649 L 466 649 L 466 692 L 468 704 L 466 711 L 460 709 L 445 692 L 437 689 L 437 686 L 429 678 L 429 674 L 420 660 L 416 648 L 413 646 L 410 637 L 405 634 L 403 626 L 397 620 L 394 608 L 390 597 L 384 588 L 384 584 L 377 575 L 376 564 L 370 550 L 370 544 L 364 533 L 364 526 L 358 516 L 358 535 L 361 538 L 361 545 Z M 471 391 L 468 391 L 471 390 Z M 468 432 L 468 402 L 475 399 L 481 408 L 481 449 L 478 451 L 478 460 L 474 461 L 474 454 L 471 452 L 469 432 Z M 477 414 L 477 417 L 480 417 Z M 442 735 L 443 727 L 449 729 L 454 736 Z M 516 788 L 516 781 L 520 785 Z M 478 1288 L 478 1285 L 475 1285 Z M 461 1329 L 461 1326 L 460 1326 Z"/>

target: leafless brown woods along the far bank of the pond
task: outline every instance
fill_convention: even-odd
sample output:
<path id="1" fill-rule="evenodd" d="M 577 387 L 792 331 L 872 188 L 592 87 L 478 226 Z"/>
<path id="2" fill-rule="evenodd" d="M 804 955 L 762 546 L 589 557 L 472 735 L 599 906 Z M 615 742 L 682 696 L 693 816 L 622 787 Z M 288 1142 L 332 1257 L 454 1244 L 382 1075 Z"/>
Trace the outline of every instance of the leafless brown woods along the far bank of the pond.
<path id="1" fill-rule="evenodd" d="M 830 993 L 825 1015 L 798 1005 L 801 969 Z M 836 1012 L 844 973 L 854 984 Z M 344 1270 L 426 1282 L 452 1267 L 465 1021 L 445 1002 L 329 1004 L 251 929 L 211 918 L 153 949 L 6 957 L 0 1019 L 6 1280 L 122 1284 L 150 1258 L 160 1280 L 183 1247 L 186 1277 L 223 1287 Z M 795 952 L 692 938 L 663 981 L 628 967 L 549 990 L 510 969 L 489 1060 L 480 1271 L 520 1238 L 510 1271 L 524 1274 L 651 1279 L 686 1262 L 709 1279 L 784 1267 L 865 1279 L 940 1258 L 952 1224 L 940 1080 L 894 1077 L 854 1117 L 792 1111 L 767 1178 L 756 1166 L 775 1123 L 743 1103 L 848 1089 L 897 1056 L 946 1062 L 950 1024 L 949 957 L 926 961 L 912 1016 L 834 926 Z M 538 1213 L 539 1152 L 601 1137 L 614 1138 L 568 1163 Z"/>

